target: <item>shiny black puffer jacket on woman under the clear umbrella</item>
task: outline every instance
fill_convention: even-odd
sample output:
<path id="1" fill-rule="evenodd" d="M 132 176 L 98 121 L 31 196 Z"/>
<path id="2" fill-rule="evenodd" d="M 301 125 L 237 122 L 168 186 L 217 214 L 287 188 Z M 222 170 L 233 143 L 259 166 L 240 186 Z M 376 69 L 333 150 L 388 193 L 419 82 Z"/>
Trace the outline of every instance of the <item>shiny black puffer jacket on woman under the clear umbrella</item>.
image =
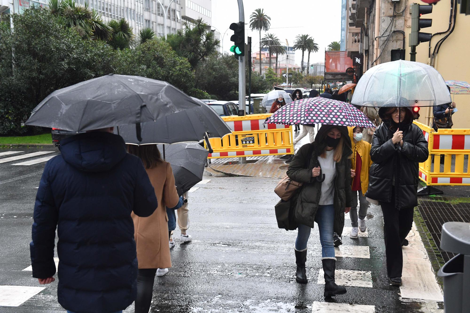
<path id="1" fill-rule="evenodd" d="M 392 202 L 392 188 L 395 188 L 395 205 L 400 208 L 414 208 L 418 205 L 418 163 L 429 156 L 428 142 L 423 131 L 413 124 L 413 113 L 406 108 L 406 116 L 401 123 L 403 147 L 393 144 L 393 133 L 398 124 L 384 120 L 387 107 L 379 109 L 383 123 L 374 133 L 370 158 L 369 187 L 366 196 L 382 202 Z M 394 184 L 394 186 L 393 186 Z"/>

